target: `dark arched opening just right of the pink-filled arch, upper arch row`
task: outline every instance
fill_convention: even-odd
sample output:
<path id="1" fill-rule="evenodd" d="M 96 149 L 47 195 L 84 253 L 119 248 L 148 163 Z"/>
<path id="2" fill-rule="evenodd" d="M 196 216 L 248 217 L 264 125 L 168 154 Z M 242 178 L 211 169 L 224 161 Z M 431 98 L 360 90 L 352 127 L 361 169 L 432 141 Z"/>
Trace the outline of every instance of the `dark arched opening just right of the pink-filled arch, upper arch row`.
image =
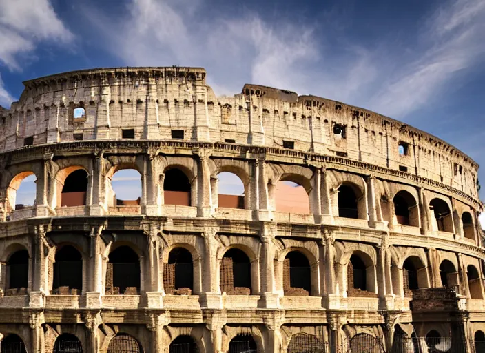
<path id="1" fill-rule="evenodd" d="M 338 216 L 351 219 L 366 219 L 365 200 L 362 191 L 354 183 L 345 181 L 337 189 Z"/>

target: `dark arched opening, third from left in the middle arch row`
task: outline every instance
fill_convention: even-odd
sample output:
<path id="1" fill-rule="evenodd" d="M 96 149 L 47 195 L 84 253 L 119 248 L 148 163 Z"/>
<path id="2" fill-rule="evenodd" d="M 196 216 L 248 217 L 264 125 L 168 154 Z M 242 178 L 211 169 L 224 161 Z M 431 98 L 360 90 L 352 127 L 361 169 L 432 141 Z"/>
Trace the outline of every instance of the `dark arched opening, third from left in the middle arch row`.
<path id="1" fill-rule="evenodd" d="M 131 294 L 140 292 L 140 259 L 127 245 L 110 253 L 106 269 L 106 294 Z"/>

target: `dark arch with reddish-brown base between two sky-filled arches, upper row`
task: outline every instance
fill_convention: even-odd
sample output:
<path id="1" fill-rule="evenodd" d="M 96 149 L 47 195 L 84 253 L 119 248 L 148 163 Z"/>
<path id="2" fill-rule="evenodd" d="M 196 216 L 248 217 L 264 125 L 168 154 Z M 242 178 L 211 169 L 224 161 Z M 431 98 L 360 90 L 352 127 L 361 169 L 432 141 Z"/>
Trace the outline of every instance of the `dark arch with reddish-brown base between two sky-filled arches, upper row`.
<path id="1" fill-rule="evenodd" d="M 163 198 L 165 205 L 190 205 L 190 181 L 178 168 L 165 171 L 163 179 Z"/>

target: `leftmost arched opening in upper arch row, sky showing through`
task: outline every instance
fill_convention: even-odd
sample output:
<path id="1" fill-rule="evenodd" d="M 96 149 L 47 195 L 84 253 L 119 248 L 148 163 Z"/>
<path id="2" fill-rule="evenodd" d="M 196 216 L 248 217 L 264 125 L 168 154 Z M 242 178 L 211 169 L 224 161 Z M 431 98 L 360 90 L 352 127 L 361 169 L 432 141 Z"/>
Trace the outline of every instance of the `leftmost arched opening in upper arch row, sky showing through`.
<path id="1" fill-rule="evenodd" d="M 17 174 L 8 185 L 7 197 L 10 210 L 23 210 L 35 205 L 37 178 L 32 172 Z"/>

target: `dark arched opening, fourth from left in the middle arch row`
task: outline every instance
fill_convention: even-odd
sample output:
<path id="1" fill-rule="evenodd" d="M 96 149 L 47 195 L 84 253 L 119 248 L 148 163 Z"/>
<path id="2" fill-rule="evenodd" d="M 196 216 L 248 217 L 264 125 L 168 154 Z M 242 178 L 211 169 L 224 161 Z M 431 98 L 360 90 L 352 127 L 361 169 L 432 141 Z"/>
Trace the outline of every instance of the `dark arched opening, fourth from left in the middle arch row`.
<path id="1" fill-rule="evenodd" d="M 163 288 L 166 294 L 192 294 L 194 264 L 192 255 L 185 248 L 174 248 L 168 255 L 163 269 Z"/>

